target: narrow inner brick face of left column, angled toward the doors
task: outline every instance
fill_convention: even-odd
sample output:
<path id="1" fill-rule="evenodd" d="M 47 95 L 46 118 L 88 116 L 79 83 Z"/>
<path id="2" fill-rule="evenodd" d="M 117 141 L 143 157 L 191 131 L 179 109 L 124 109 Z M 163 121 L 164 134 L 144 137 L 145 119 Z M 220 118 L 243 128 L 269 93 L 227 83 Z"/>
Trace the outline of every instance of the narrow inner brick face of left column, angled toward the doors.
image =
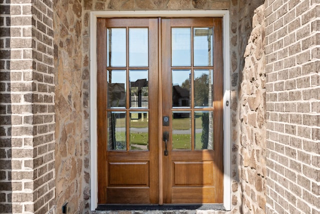
<path id="1" fill-rule="evenodd" d="M 34 212 L 54 208 L 54 74 L 52 1 L 32 1 Z"/>

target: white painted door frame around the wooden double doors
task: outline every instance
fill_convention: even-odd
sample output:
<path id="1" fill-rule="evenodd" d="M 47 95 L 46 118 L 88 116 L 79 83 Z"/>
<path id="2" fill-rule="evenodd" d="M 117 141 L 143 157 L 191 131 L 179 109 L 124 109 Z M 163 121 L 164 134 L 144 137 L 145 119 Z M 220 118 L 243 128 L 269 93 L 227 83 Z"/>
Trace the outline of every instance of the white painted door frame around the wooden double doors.
<path id="1" fill-rule="evenodd" d="M 91 11 L 90 12 L 90 208 L 97 207 L 97 62 L 96 21 L 97 18 L 115 17 L 222 17 L 223 40 L 223 205 L 231 209 L 231 142 L 230 142 L 230 45 L 229 11 Z"/>

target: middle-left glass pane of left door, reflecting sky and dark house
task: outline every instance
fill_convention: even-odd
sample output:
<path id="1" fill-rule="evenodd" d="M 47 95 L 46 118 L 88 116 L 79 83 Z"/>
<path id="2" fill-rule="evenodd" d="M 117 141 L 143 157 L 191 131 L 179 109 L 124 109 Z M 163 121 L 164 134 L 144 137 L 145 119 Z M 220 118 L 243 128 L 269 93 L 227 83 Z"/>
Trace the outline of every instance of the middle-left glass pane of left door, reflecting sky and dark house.
<path id="1" fill-rule="evenodd" d="M 112 107 L 125 107 L 125 70 L 107 71 L 107 105 Z"/>

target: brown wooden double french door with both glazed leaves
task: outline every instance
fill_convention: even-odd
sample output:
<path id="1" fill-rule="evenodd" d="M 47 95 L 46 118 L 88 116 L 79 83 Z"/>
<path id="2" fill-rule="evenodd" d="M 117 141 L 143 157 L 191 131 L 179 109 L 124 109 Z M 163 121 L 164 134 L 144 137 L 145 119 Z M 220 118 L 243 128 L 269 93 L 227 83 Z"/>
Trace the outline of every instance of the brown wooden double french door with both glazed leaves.
<path id="1" fill-rule="evenodd" d="M 97 20 L 98 203 L 222 203 L 222 18 Z"/>

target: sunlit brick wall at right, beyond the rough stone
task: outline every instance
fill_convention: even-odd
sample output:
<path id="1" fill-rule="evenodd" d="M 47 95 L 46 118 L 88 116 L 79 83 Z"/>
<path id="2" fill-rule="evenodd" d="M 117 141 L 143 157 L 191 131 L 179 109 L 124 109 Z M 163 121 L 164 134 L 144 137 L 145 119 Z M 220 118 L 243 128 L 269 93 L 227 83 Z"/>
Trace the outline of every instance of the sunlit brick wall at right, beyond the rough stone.
<path id="1" fill-rule="evenodd" d="M 268 213 L 320 211 L 320 4 L 265 1 Z"/>

